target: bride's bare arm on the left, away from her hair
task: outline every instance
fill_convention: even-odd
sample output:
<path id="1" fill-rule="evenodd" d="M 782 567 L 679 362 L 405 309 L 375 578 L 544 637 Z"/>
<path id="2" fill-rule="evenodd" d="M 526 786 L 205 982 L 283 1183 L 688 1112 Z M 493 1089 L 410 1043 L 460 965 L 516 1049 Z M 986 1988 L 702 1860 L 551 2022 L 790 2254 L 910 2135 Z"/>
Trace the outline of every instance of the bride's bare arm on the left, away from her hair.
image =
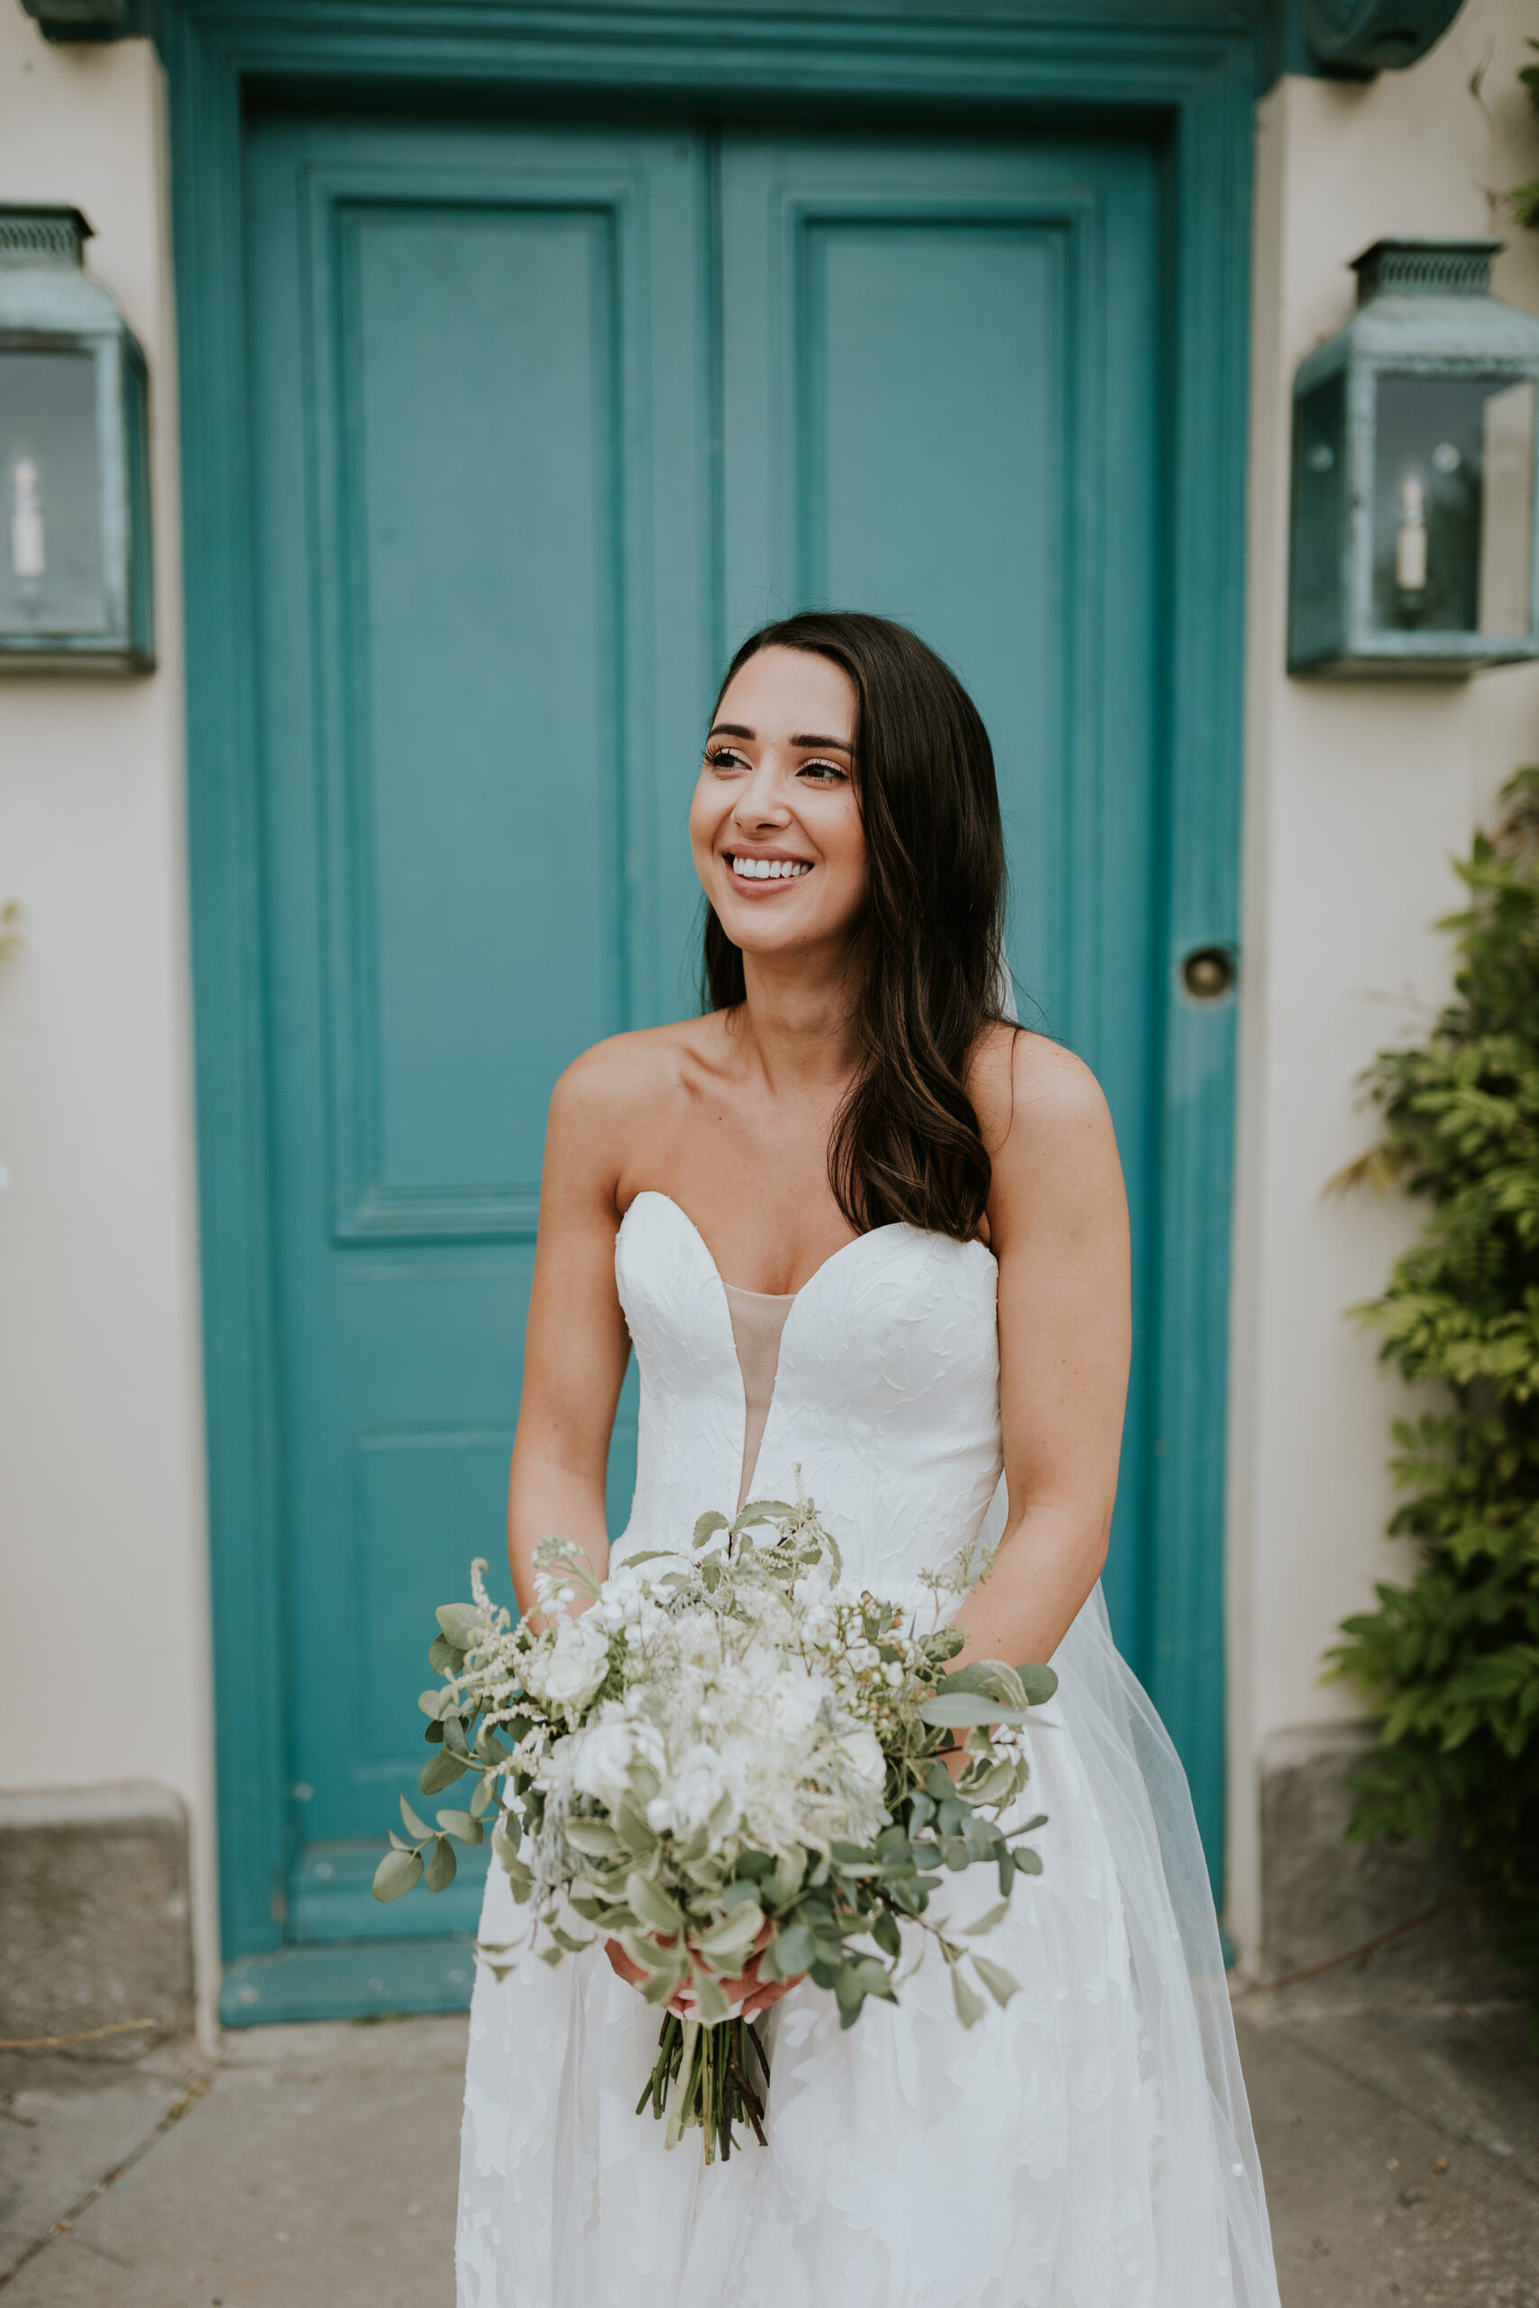
<path id="1" fill-rule="evenodd" d="M 556 1082 L 545 1131 L 540 1237 L 524 1332 L 524 1396 L 508 1482 L 508 1560 L 519 1609 L 535 1599 L 533 1553 L 556 1535 L 609 1569 L 605 1470 L 630 1336 L 614 1288 L 611 1046 Z"/>

